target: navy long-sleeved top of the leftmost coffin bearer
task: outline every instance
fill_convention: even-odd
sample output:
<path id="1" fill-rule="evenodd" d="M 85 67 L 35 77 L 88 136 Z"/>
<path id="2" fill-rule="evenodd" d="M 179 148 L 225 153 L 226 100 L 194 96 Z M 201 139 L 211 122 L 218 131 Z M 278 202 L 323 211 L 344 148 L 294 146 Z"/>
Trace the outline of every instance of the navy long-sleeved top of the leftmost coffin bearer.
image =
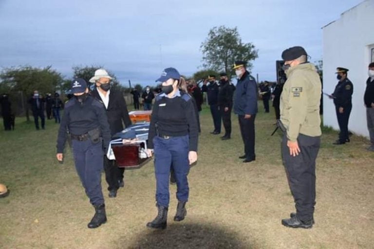
<path id="1" fill-rule="evenodd" d="M 101 131 L 104 148 L 108 148 L 111 131 L 104 104 L 92 96 L 87 96 L 83 103 L 79 103 L 75 97 L 71 98 L 65 104 L 58 130 L 57 153 L 63 153 L 68 131 L 70 134 L 82 135 L 96 128 Z"/>

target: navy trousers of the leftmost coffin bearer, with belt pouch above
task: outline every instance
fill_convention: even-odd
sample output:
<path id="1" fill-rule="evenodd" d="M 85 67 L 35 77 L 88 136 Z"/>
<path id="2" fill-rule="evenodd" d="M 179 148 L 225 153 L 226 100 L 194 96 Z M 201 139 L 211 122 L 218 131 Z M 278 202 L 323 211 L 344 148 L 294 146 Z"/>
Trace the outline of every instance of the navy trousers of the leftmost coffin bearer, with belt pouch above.
<path id="1" fill-rule="evenodd" d="M 104 203 L 101 191 L 101 171 L 104 163 L 102 142 L 93 144 L 90 139 L 86 141 L 73 139 L 72 144 L 75 169 L 86 194 L 92 205 L 101 205 Z"/>

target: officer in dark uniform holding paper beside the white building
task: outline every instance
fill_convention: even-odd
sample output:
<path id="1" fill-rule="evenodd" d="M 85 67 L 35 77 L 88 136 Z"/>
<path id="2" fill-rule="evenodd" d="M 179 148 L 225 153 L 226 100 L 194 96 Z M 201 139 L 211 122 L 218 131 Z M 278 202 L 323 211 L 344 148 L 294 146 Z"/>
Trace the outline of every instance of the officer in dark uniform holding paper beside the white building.
<path id="1" fill-rule="evenodd" d="M 330 98 L 334 98 L 335 110 L 337 113 L 337 122 L 339 124 L 339 139 L 334 143 L 336 145 L 349 142 L 348 121 L 352 110 L 353 84 L 347 78 L 349 70 L 343 67 L 337 68 L 337 79 L 339 82 L 335 87 L 334 93 Z"/>

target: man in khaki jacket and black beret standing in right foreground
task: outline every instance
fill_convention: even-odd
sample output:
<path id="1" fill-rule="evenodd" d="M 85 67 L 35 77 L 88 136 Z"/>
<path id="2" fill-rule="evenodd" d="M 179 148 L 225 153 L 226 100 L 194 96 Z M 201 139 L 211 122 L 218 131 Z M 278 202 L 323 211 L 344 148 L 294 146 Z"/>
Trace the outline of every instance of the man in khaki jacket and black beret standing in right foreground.
<path id="1" fill-rule="evenodd" d="M 282 53 L 287 81 L 281 94 L 281 153 L 296 213 L 281 221 L 291 228 L 312 228 L 316 204 L 316 158 L 320 145 L 321 81 L 302 47 Z"/>

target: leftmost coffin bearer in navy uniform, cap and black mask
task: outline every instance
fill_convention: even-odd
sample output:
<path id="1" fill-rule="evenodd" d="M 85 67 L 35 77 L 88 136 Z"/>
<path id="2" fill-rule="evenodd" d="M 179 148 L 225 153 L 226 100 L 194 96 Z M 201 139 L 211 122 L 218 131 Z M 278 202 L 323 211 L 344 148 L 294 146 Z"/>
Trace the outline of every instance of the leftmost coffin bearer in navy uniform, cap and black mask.
<path id="1" fill-rule="evenodd" d="M 101 191 L 101 171 L 103 154 L 109 147 L 111 131 L 104 104 L 88 96 L 87 83 L 84 79 L 73 80 L 71 92 L 74 97 L 65 104 L 58 130 L 56 157 L 58 161 L 63 161 L 65 142 L 70 135 L 75 169 L 95 209 L 88 228 L 97 228 L 107 221 Z"/>

